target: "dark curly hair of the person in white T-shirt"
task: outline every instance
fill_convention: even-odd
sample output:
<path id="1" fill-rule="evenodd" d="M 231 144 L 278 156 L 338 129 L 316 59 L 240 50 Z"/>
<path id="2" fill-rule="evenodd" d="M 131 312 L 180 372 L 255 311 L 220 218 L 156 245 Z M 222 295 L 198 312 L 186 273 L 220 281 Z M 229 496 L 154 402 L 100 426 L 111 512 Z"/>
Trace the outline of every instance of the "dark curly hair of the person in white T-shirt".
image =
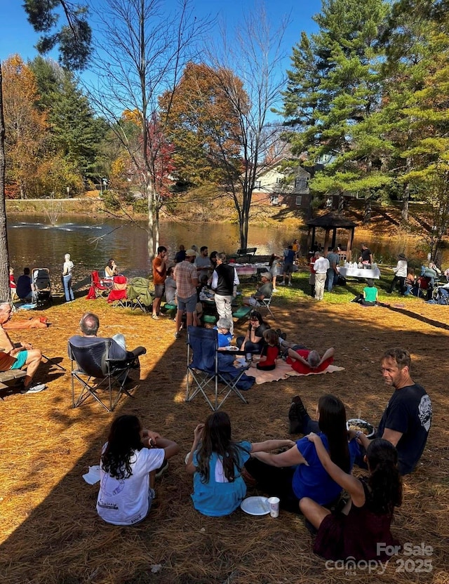
<path id="1" fill-rule="evenodd" d="M 143 448 L 140 430 L 142 425 L 137 416 L 119 416 L 112 422 L 101 456 L 102 468 L 111 477 L 128 479 L 133 474 L 130 460 L 136 450 Z"/>

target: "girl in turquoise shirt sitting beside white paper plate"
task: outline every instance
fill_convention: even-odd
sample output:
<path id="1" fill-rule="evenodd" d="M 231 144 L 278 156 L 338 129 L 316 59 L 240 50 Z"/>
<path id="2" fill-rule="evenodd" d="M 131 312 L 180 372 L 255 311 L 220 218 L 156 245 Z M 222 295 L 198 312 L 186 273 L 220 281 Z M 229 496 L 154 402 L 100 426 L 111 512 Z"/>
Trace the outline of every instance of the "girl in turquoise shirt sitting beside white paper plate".
<path id="1" fill-rule="evenodd" d="M 224 411 L 211 413 L 194 430 L 194 442 L 187 456 L 187 472 L 194 475 L 194 507 L 203 515 L 221 517 L 239 507 L 246 496 L 241 477 L 243 464 L 255 452 L 291 446 L 291 440 L 234 442 L 231 420 Z"/>

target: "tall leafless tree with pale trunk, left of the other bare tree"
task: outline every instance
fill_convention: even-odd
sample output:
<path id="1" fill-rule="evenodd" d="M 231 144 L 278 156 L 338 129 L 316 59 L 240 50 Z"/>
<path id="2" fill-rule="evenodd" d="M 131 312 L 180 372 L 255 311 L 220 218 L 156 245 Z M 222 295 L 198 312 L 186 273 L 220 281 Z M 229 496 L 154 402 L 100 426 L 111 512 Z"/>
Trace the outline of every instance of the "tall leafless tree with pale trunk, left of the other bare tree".
<path id="1" fill-rule="evenodd" d="M 158 178 L 166 120 L 159 116 L 158 97 L 166 91 L 173 94 L 210 22 L 193 17 L 190 0 L 180 0 L 173 13 L 163 11 L 161 0 L 105 0 L 95 14 L 98 36 L 93 71 L 98 85 L 88 91 L 140 175 L 151 258 L 159 245 L 159 211 L 164 200 Z M 128 138 L 121 124 L 123 112 L 136 115 L 137 142 Z"/>

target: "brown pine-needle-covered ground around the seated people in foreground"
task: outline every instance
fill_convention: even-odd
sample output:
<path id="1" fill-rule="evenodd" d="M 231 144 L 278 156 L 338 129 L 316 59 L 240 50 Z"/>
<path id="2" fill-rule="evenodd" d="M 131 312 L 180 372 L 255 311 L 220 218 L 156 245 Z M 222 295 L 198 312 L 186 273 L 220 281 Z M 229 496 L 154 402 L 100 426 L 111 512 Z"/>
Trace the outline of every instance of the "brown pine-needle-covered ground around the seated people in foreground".
<path id="1" fill-rule="evenodd" d="M 46 380 L 48 390 L 9 395 L 0 402 L 2 581 L 449 582 L 449 307 L 416 300 L 406 307 L 364 309 L 316 304 L 300 292 L 294 303 L 274 304 L 276 326 L 309 347 L 335 346 L 335 364 L 345 371 L 255 386 L 246 393 L 247 406 L 230 398 L 225 409 L 234 437 L 253 442 L 287 437 L 287 411 L 295 394 L 314 411 L 319 396 L 333 392 L 346 404 L 348 416 L 377 424 L 391 392 L 380 376 L 380 355 L 391 346 L 406 347 L 413 356 L 413 379 L 431 396 L 434 421 L 422 463 L 404 480 L 404 503 L 396 512 L 394 533 L 403 543 L 431 546 L 431 555 L 394 557 L 383 575 L 379 569 L 370 575 L 366 566 L 345 573 L 326 569 L 311 552 L 313 540 L 300 516 L 281 512 L 279 519 L 250 517 L 241 510 L 218 519 L 199 515 L 189 498 L 192 477 L 185 473 L 184 457 L 195 425 L 210 410 L 200 397 L 190 404 L 184 401 L 185 338 L 173 338 L 174 324 L 168 319 L 154 321 L 140 312 L 114 310 L 102 300 L 79 299 L 39 313 L 52 321 L 48 330 L 11 331 L 11 338 L 27 338 L 49 357 L 61 357 L 69 370 L 67 338 L 77 332 L 81 314 L 93 310 L 100 316 L 103 335 L 121 331 L 128 347 L 147 347 L 140 386 L 135 399 L 122 399 L 112 414 L 95 401 L 74 410 L 69 373 L 47 363 L 36 379 Z M 14 318 L 19 316 L 30 314 Z M 136 413 L 147 427 L 181 445 L 159 481 L 156 506 L 133 528 L 104 524 L 95 512 L 98 485 L 90 486 L 81 477 L 89 465 L 98 464 L 107 428 L 119 413 Z M 249 489 L 248 494 L 255 491 Z M 420 573 L 423 559 L 431 560 L 430 573 Z M 159 564 L 159 571 L 152 573 Z"/>

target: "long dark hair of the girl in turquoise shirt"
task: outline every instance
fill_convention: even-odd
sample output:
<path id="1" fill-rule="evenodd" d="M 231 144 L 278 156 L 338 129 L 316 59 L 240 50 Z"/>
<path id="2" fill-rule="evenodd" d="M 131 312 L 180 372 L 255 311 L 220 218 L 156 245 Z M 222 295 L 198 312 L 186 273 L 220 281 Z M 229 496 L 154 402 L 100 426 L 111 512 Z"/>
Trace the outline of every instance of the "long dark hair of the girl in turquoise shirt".
<path id="1" fill-rule="evenodd" d="M 204 424 L 201 446 L 198 451 L 198 472 L 201 482 L 208 483 L 210 478 L 210 457 L 215 452 L 222 461 L 225 477 L 232 483 L 236 479 L 236 469 L 240 472 L 239 444 L 231 438 L 231 420 L 224 411 L 216 411 L 208 416 Z"/>

